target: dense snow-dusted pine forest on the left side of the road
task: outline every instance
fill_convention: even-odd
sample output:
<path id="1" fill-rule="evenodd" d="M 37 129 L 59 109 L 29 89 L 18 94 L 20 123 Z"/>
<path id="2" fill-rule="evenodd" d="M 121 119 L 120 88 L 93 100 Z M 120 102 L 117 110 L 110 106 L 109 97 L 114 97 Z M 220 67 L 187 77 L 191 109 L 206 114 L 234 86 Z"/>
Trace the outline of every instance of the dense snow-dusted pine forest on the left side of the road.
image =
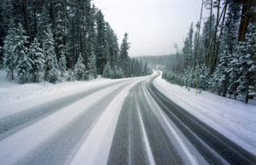
<path id="1" fill-rule="evenodd" d="M 91 0 L 1 0 L 0 33 L 0 67 L 20 83 L 151 73 Z"/>

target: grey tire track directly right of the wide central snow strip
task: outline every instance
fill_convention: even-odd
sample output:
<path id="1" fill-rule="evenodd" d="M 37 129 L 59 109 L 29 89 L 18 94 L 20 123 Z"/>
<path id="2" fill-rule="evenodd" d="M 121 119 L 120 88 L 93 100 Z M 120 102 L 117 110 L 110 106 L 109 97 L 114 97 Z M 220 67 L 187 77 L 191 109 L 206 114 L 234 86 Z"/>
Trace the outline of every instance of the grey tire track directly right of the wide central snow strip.
<path id="1" fill-rule="evenodd" d="M 108 156 L 109 165 L 149 163 L 135 98 L 139 84 L 131 88 L 120 111 Z"/>

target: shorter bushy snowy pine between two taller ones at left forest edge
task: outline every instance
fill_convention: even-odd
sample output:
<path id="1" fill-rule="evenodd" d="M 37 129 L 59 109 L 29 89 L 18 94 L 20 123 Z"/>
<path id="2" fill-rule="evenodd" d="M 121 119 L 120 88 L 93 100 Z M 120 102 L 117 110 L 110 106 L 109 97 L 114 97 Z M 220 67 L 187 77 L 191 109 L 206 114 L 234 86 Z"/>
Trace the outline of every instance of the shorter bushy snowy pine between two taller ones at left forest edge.
<path id="1" fill-rule="evenodd" d="M 29 70 L 30 75 L 32 75 L 32 81 L 39 81 L 40 75 L 44 72 L 44 51 L 40 48 L 40 43 L 38 43 L 37 38 L 34 39 L 29 47 L 29 57 L 32 59 L 32 67 Z"/>

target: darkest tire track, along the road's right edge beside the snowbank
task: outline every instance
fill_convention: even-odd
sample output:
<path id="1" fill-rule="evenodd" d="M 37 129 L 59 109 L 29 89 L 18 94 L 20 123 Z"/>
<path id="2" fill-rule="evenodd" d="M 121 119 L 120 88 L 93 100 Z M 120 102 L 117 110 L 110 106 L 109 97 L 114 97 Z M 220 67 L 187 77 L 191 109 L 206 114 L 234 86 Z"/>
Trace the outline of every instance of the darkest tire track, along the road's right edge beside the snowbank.
<path id="1" fill-rule="evenodd" d="M 148 91 L 160 108 L 174 122 L 189 139 L 189 141 L 201 152 L 207 162 L 214 164 L 243 163 L 253 164 L 256 157 L 243 150 L 240 146 L 225 138 L 216 130 L 210 128 L 204 122 L 183 110 L 180 106 L 169 100 L 154 87 L 152 80 L 147 85 Z M 209 146 L 209 147 L 207 147 Z"/>

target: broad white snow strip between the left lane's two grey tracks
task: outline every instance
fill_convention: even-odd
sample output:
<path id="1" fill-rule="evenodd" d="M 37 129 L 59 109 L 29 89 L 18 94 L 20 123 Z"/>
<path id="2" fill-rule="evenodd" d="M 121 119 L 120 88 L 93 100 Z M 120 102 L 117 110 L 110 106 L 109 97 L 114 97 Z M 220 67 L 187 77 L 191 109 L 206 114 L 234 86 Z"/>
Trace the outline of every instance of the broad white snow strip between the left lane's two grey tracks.
<path id="1" fill-rule="evenodd" d="M 104 88 L 94 94 L 90 94 L 84 99 L 61 109 L 61 111 L 57 111 L 49 117 L 45 117 L 31 126 L 20 130 L 9 136 L 7 139 L 3 139 L 0 141 L 1 163 L 13 164 L 21 157 L 26 156 L 26 154 L 32 151 L 35 147 L 46 141 L 51 135 L 55 134 L 56 131 L 65 127 L 68 122 L 71 122 L 75 117 L 78 117 L 82 112 L 90 108 L 91 105 L 96 104 L 98 100 L 101 100 L 114 89 L 121 87 L 125 83 L 119 83 L 118 85 Z M 105 121 L 106 119 L 103 122 Z"/>

